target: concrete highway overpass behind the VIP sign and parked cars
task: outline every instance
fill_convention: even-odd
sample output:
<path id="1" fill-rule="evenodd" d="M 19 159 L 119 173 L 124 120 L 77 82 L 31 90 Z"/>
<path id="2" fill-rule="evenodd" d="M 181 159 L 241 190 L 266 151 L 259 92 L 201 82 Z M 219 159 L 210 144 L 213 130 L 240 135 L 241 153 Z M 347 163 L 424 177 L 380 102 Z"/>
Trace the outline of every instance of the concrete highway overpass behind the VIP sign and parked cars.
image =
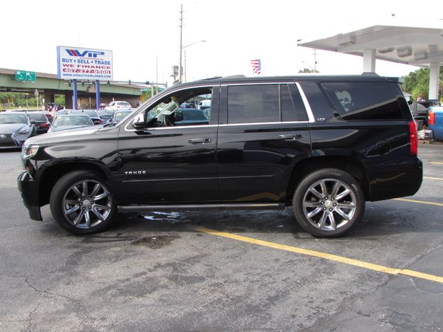
<path id="1" fill-rule="evenodd" d="M 1 92 L 19 92 L 35 93 L 44 96 L 45 103 L 54 102 L 55 95 L 64 95 L 66 109 L 73 108 L 73 83 L 67 80 L 59 80 L 57 75 L 49 73 L 35 73 L 35 81 L 22 82 L 15 80 L 15 69 L 0 68 L 0 93 Z M 89 103 L 95 108 L 96 105 L 96 86 L 95 81 L 78 81 L 78 105 L 80 108 L 89 108 Z M 146 86 L 134 84 L 116 84 L 114 82 L 100 82 L 100 103 L 108 104 L 114 100 L 125 100 L 132 104 L 132 107 L 138 107 L 141 89 Z M 91 98 L 91 99 L 90 99 Z"/>

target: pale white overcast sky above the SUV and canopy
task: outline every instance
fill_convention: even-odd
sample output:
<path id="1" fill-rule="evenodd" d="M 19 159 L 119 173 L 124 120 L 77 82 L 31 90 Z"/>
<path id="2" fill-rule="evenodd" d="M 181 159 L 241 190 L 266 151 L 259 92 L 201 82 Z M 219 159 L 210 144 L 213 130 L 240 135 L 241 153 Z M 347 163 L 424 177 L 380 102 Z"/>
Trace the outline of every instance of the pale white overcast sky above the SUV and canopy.
<path id="1" fill-rule="evenodd" d="M 351 24 L 368 26 L 392 17 L 442 19 L 435 0 L 365 1 L 2 1 L 0 68 L 57 73 L 56 46 L 113 51 L 114 80 L 168 82 L 179 63 L 179 11 L 183 4 L 186 80 L 252 76 L 251 59 L 263 76 L 296 75 L 314 67 L 325 75 L 361 74 L 363 59 L 297 46 L 298 39 L 336 35 Z M 431 8 L 436 8 L 432 10 Z M 437 8 L 438 7 L 438 8 Z M 422 9 L 420 9 L 422 8 Z M 395 16 L 392 16 L 395 15 Z M 204 40 L 206 42 L 199 42 Z M 415 66 L 377 60 L 379 75 L 402 76 Z"/>

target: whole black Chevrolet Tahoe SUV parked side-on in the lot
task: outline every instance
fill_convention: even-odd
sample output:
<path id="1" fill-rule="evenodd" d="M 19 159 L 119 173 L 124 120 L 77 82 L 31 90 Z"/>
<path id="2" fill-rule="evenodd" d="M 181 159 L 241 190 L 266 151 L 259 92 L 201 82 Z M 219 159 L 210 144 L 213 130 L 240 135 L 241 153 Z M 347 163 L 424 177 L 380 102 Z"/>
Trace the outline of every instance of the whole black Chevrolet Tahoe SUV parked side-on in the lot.
<path id="1" fill-rule="evenodd" d="M 202 100 L 210 108 L 183 120 L 181 104 Z M 107 228 L 117 211 L 292 206 L 307 232 L 339 237 L 365 201 L 410 196 L 422 183 L 399 80 L 377 75 L 177 84 L 118 124 L 30 138 L 22 158 L 30 218 L 42 220 L 49 203 L 75 234 Z"/>

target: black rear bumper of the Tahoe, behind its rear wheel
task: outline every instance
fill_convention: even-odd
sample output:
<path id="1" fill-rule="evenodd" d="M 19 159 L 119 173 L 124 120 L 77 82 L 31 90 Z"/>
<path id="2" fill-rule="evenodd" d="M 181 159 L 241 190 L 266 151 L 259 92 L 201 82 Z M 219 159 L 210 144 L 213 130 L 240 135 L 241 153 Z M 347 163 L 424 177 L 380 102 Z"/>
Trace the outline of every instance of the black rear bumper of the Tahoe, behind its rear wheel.
<path id="1" fill-rule="evenodd" d="M 370 169 L 369 201 L 413 196 L 422 185 L 423 163 L 418 157 L 396 159 Z"/>

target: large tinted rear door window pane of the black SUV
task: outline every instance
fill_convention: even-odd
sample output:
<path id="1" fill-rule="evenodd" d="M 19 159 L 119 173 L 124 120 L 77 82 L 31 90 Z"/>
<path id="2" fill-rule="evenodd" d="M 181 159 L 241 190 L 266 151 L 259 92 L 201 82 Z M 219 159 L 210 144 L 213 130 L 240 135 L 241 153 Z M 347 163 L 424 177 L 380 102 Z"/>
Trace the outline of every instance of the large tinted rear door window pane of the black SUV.
<path id="1" fill-rule="evenodd" d="M 279 122 L 278 84 L 228 86 L 228 123 Z"/>

